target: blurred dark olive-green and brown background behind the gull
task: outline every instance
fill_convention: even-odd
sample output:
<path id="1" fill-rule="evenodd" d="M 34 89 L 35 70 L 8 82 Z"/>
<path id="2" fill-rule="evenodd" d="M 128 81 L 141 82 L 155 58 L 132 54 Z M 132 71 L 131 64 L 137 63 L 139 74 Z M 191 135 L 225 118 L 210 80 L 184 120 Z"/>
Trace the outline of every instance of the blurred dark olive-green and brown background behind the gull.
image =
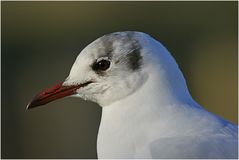
<path id="1" fill-rule="evenodd" d="M 78 53 L 106 33 L 146 32 L 182 69 L 192 96 L 237 123 L 238 4 L 1 2 L 2 158 L 96 158 L 101 108 L 64 98 L 25 111 L 64 80 Z"/>

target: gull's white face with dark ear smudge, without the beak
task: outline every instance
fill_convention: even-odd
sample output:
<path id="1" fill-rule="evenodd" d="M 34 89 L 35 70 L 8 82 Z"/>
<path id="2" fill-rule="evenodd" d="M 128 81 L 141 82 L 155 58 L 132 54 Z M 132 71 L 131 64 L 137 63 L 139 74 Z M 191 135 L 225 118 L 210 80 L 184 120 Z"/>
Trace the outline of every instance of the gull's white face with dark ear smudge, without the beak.
<path id="1" fill-rule="evenodd" d="M 101 106 L 132 94 L 146 79 L 140 38 L 137 32 L 98 38 L 79 54 L 63 85 L 87 84 L 75 96 Z"/>

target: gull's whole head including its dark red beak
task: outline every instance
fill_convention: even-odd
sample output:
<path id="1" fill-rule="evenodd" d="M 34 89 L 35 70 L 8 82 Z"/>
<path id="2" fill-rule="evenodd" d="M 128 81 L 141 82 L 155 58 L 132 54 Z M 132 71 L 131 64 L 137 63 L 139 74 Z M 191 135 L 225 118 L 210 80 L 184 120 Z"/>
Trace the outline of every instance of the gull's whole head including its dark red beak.
<path id="1" fill-rule="evenodd" d="M 160 72 L 158 79 L 165 82 L 162 91 L 174 88 L 169 85 L 175 81 L 184 81 L 167 49 L 149 35 L 133 31 L 107 34 L 81 51 L 65 81 L 37 94 L 27 108 L 66 96 L 104 107 L 133 94 L 150 74 Z"/>

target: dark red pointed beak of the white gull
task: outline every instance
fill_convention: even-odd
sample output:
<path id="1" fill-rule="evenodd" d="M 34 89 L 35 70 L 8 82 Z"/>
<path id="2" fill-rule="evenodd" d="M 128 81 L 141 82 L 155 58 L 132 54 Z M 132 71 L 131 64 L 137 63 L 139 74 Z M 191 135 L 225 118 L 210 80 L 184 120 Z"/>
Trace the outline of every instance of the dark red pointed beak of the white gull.
<path id="1" fill-rule="evenodd" d="M 54 100 L 70 96 L 76 93 L 76 90 L 80 87 L 86 86 L 91 82 L 87 82 L 81 85 L 63 86 L 63 83 L 59 83 L 45 91 L 38 93 L 33 100 L 27 105 L 27 109 L 31 109 L 37 106 L 41 106 L 52 102 Z"/>

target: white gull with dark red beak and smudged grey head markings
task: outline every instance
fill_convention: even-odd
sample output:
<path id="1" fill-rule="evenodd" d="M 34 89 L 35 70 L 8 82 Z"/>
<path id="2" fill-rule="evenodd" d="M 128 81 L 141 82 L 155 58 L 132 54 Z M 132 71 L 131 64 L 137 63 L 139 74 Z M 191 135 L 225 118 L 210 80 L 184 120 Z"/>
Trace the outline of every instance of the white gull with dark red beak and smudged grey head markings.
<path id="1" fill-rule="evenodd" d="M 146 33 L 96 39 L 27 109 L 67 96 L 102 107 L 98 158 L 238 158 L 238 126 L 191 97 L 175 59 Z"/>

